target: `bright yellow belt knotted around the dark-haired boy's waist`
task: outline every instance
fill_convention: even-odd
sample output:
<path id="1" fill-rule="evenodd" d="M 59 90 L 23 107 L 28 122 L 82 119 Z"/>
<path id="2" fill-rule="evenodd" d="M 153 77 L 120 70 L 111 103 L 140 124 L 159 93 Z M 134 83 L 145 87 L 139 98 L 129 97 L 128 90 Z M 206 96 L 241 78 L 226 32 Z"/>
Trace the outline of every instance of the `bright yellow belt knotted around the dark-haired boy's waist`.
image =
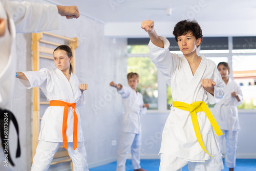
<path id="1" fill-rule="evenodd" d="M 199 129 L 199 124 L 198 124 L 198 120 L 197 120 L 197 112 L 202 112 L 204 111 L 205 115 L 207 116 L 207 118 L 209 119 L 212 127 L 214 128 L 216 134 L 218 136 L 222 135 L 223 133 L 221 132 L 221 129 L 218 125 L 218 123 L 216 122 L 214 116 L 211 114 L 208 106 L 205 104 L 205 102 L 203 101 L 195 101 L 191 104 L 187 104 L 187 103 L 184 103 L 184 102 L 180 102 L 180 101 L 174 101 L 173 102 L 173 106 L 175 108 L 178 108 L 178 109 L 181 109 L 181 110 L 184 110 L 184 111 L 188 111 L 191 115 L 191 120 L 192 120 L 192 123 L 193 123 L 193 127 L 194 127 L 194 131 L 196 133 L 196 137 L 197 137 L 197 140 L 199 142 L 199 144 L 201 145 L 201 147 L 203 148 L 203 150 L 208 154 L 210 155 L 205 146 L 204 146 L 204 143 L 203 143 L 203 140 L 202 140 L 202 137 L 201 137 L 201 133 L 200 133 L 200 129 Z M 211 157 L 214 157 L 212 155 L 210 155 Z"/>

